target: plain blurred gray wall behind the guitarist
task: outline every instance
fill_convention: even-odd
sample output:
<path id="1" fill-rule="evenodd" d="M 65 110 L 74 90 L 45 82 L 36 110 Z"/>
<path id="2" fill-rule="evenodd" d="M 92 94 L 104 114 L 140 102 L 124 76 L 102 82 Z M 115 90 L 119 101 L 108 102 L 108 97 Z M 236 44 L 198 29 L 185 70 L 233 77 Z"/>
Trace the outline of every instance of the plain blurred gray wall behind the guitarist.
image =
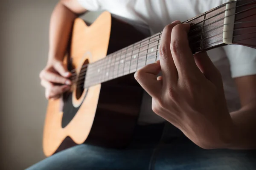
<path id="1" fill-rule="evenodd" d="M 47 62 L 51 12 L 58 0 L 0 0 L 0 170 L 45 158 L 47 100 L 39 73 Z M 93 22 L 99 12 L 82 18 Z"/>

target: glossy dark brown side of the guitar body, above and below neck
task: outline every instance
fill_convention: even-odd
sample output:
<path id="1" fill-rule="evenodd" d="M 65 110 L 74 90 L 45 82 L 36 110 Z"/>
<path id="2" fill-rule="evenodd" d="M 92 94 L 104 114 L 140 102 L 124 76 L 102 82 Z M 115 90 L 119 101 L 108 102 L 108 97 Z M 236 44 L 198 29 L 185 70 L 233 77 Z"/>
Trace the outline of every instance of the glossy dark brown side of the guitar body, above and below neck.
<path id="1" fill-rule="evenodd" d="M 150 32 L 147 26 L 111 15 L 108 54 L 148 36 Z M 112 148 L 127 146 L 137 123 L 142 95 L 143 89 L 134 79 L 134 74 L 102 83 L 93 126 L 84 143 Z M 63 119 L 70 118 L 66 116 Z M 55 153 L 75 145 L 76 143 L 67 137 Z"/>

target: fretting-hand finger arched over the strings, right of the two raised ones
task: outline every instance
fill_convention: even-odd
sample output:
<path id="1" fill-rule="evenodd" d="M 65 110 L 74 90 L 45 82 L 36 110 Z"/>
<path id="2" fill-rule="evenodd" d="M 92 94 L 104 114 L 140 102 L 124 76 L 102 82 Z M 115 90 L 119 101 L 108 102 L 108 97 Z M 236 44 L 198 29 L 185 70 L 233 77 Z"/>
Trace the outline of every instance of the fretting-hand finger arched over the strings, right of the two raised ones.
<path id="1" fill-rule="evenodd" d="M 171 52 L 178 76 L 186 76 L 186 78 L 191 77 L 192 74 L 193 76 L 201 74 L 189 47 L 187 36 L 189 29 L 189 24 L 179 24 L 173 28 L 171 36 Z"/>

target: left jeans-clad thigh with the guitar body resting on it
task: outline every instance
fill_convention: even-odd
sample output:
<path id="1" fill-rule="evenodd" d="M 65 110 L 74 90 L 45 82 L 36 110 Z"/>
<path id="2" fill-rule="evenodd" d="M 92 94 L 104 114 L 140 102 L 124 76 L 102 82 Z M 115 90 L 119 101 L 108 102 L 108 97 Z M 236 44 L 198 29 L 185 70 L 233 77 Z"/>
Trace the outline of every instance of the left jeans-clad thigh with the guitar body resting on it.
<path id="1" fill-rule="evenodd" d="M 77 145 L 44 159 L 28 170 L 148 170 L 154 146 L 124 150 Z"/>

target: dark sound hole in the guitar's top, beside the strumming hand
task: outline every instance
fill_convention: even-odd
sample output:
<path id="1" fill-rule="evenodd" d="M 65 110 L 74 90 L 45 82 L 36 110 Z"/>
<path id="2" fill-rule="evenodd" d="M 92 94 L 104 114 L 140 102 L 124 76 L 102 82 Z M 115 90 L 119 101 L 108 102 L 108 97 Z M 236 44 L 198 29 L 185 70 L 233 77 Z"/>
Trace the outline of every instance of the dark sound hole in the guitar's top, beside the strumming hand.
<path id="1" fill-rule="evenodd" d="M 87 65 L 89 63 L 89 60 L 86 59 L 83 63 L 83 66 L 79 72 L 79 75 L 77 77 L 76 81 L 76 99 L 80 99 L 81 95 L 84 92 L 84 80 L 86 77 L 86 72 L 87 72 Z"/>

